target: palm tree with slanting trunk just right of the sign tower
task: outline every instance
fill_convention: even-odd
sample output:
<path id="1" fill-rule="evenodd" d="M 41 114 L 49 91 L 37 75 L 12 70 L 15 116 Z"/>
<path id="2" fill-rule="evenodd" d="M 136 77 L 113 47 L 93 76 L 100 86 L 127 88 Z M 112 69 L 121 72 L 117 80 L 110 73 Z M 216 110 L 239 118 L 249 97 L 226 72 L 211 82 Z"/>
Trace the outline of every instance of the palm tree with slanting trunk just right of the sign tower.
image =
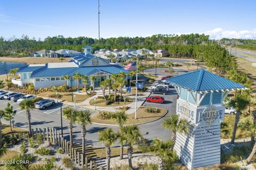
<path id="1" fill-rule="evenodd" d="M 235 138 L 236 138 L 236 130 L 237 130 L 237 124 L 239 122 L 240 115 L 242 112 L 247 108 L 247 106 L 250 104 L 249 99 L 247 96 L 238 95 L 236 98 L 230 101 L 228 104 L 229 106 L 236 109 L 236 117 L 235 117 L 235 124 L 233 129 L 233 135 L 231 138 L 231 143 L 234 144 Z"/>

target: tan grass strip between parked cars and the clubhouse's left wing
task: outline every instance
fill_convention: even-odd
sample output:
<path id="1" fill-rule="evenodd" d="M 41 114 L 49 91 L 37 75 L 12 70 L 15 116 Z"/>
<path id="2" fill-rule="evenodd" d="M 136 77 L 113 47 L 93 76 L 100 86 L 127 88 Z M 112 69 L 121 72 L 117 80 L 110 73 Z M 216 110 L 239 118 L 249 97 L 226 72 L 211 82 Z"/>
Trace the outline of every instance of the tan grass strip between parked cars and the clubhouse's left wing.
<path id="1" fill-rule="evenodd" d="M 58 92 L 59 97 L 58 99 L 61 100 L 66 100 L 66 101 L 72 101 L 72 97 L 71 97 L 71 92 Z M 78 95 L 76 94 L 76 102 L 77 103 L 81 103 L 82 101 L 84 101 L 85 99 L 92 97 L 96 95 L 96 92 L 94 92 L 92 95 Z M 55 92 L 53 91 L 47 91 L 47 92 L 41 92 L 40 94 L 37 94 L 38 97 L 50 97 L 50 98 L 56 98 L 55 97 Z M 75 100 L 74 94 L 73 94 L 73 98 Z"/>

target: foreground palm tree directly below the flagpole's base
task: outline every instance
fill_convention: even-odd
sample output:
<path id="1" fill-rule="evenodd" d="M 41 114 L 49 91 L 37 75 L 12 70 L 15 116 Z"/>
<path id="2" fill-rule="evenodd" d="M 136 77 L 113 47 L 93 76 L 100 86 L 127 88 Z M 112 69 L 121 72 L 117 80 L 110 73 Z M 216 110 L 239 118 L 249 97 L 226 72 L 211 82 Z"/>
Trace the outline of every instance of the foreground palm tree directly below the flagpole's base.
<path id="1" fill-rule="evenodd" d="M 123 132 L 122 135 L 124 136 L 124 142 L 127 145 L 129 166 L 132 168 L 133 145 L 138 143 L 140 139 L 143 139 L 143 137 L 140 132 L 139 126 L 137 125 L 124 126 L 122 129 L 122 132 Z"/>

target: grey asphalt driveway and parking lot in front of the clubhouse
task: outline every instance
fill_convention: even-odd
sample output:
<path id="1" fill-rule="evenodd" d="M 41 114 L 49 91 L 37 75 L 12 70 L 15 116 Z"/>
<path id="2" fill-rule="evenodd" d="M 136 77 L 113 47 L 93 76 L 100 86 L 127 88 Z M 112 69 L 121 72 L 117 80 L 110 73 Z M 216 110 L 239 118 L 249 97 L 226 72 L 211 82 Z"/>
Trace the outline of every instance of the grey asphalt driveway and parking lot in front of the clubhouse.
<path id="1" fill-rule="evenodd" d="M 162 107 L 166 108 L 169 113 L 166 115 L 168 116 L 170 113 L 175 113 L 175 106 L 176 106 L 176 99 L 177 94 L 174 90 L 171 90 L 170 94 L 165 96 L 166 104 L 146 104 L 147 106 L 155 106 L 155 107 Z M 9 100 L 1 100 L 0 101 L 0 109 L 4 109 L 7 103 L 10 102 L 11 105 L 15 110 L 17 110 L 17 114 L 14 116 L 14 125 L 20 128 L 28 129 L 27 119 L 26 119 L 26 112 L 21 111 L 19 105 L 14 103 L 13 101 Z M 63 105 L 63 107 L 67 107 Z M 84 109 L 84 108 L 79 108 Z M 97 111 L 91 110 L 92 115 L 96 114 Z M 165 116 L 165 117 L 166 117 Z M 45 111 L 41 111 L 38 109 L 33 109 L 31 111 L 31 125 L 33 128 L 55 128 L 58 132 L 61 132 L 61 116 L 60 116 L 60 105 L 55 105 L 47 108 Z M 140 130 L 143 136 L 149 140 L 154 138 L 161 138 L 162 140 L 170 139 L 171 138 L 171 131 L 165 130 L 162 128 L 161 123 L 163 118 L 160 120 L 141 124 L 139 125 Z M 9 124 L 8 121 L 2 119 L 3 123 Z M 98 125 L 98 124 L 91 124 L 86 127 L 86 145 L 92 145 L 97 147 L 103 147 L 100 142 L 98 142 L 98 131 L 103 130 L 106 128 L 113 128 L 115 131 L 118 130 L 118 126 L 105 126 L 105 125 Z M 69 131 L 68 131 L 68 122 L 63 118 L 63 135 L 66 139 L 69 139 Z M 74 141 L 77 143 L 82 143 L 81 141 L 81 133 L 79 125 L 75 124 L 73 129 L 73 138 Z M 115 146 L 118 146 L 118 143 L 115 143 Z"/>

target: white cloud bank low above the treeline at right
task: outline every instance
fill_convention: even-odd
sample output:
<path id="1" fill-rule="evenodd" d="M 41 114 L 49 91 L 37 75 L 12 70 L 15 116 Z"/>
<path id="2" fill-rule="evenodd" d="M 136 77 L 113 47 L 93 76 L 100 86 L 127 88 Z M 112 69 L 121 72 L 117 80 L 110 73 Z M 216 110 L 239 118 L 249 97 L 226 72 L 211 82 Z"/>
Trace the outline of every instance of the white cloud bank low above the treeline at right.
<path id="1" fill-rule="evenodd" d="M 205 35 L 210 35 L 210 39 L 221 39 L 221 38 L 242 38 L 242 39 L 256 39 L 256 29 L 252 31 L 241 30 L 241 31 L 228 31 L 222 28 L 215 28 L 213 30 L 202 32 Z"/>

